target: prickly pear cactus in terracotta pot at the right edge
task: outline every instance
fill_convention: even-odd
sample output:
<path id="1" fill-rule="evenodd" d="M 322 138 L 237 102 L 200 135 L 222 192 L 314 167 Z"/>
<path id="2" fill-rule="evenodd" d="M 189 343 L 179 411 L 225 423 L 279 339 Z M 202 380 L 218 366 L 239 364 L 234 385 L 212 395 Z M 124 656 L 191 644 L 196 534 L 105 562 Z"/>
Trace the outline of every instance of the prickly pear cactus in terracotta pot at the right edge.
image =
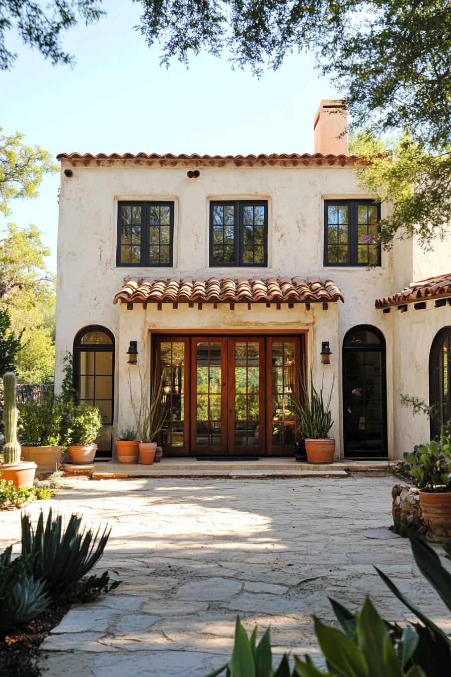
<path id="1" fill-rule="evenodd" d="M 443 435 L 404 454 L 398 470 L 420 491 L 423 519 L 434 536 L 451 539 L 451 436 Z"/>

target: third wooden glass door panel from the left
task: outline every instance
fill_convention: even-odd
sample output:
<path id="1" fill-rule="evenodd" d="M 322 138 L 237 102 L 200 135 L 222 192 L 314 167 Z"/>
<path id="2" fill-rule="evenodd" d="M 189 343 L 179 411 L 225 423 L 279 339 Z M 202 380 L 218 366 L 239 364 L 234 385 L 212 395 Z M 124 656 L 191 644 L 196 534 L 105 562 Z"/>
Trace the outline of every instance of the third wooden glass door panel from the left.
<path id="1" fill-rule="evenodd" d="M 263 339 L 229 339 L 229 454 L 264 451 Z"/>

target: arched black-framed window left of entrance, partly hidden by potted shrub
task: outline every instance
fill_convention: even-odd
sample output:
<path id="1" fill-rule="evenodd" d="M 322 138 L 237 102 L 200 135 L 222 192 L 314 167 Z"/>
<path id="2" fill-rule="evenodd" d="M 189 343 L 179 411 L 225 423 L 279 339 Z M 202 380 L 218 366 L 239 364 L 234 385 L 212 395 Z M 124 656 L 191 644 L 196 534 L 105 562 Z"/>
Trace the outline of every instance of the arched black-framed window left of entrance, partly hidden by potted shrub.
<path id="1" fill-rule="evenodd" d="M 96 456 L 112 456 L 114 336 L 105 327 L 86 327 L 76 335 L 74 387 L 80 404 L 94 404 L 101 410 L 103 425 L 96 440 Z"/>

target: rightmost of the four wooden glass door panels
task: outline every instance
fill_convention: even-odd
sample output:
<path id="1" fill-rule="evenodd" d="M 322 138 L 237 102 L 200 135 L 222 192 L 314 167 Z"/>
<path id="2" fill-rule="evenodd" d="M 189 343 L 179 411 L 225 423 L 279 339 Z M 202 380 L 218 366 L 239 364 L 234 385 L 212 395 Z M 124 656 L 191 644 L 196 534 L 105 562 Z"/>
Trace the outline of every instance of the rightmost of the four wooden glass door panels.
<path id="1" fill-rule="evenodd" d="M 302 364 L 299 336 L 268 339 L 268 453 L 285 456 L 293 453 L 298 439 L 298 424 L 292 399 L 299 397 Z"/>

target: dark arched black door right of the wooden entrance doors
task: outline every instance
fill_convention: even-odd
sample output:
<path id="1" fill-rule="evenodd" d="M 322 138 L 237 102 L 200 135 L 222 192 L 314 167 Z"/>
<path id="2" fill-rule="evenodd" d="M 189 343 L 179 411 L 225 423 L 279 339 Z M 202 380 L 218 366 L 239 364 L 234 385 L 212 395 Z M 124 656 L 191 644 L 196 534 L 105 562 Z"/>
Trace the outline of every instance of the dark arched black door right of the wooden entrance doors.
<path id="1" fill-rule="evenodd" d="M 387 458 L 385 339 L 369 324 L 343 339 L 343 442 L 346 458 Z"/>

